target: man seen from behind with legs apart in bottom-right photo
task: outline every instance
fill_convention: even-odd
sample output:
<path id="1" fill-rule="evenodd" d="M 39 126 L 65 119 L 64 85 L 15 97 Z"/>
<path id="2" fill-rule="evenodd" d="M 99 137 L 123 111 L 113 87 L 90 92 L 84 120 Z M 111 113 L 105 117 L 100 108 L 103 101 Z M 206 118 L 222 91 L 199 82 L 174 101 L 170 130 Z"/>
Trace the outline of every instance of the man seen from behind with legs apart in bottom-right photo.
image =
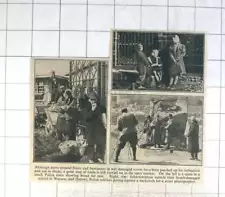
<path id="1" fill-rule="evenodd" d="M 133 160 L 136 160 L 137 151 L 137 130 L 138 120 L 133 113 L 128 113 L 127 108 L 122 109 L 122 115 L 118 117 L 117 127 L 120 132 L 119 143 L 117 144 L 115 162 L 118 162 L 121 150 L 129 142 L 133 151 Z"/>

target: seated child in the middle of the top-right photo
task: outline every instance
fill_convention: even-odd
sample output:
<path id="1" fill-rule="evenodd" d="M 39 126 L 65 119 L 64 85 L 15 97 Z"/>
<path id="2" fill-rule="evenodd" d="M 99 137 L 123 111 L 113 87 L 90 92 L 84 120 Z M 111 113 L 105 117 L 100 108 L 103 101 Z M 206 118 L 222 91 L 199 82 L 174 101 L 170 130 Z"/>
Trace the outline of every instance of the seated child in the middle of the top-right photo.
<path id="1" fill-rule="evenodd" d="M 160 87 L 162 81 L 162 64 L 158 54 L 159 51 L 157 49 L 153 49 L 151 55 L 148 57 L 148 61 L 152 68 L 152 78 L 155 81 L 156 86 Z"/>

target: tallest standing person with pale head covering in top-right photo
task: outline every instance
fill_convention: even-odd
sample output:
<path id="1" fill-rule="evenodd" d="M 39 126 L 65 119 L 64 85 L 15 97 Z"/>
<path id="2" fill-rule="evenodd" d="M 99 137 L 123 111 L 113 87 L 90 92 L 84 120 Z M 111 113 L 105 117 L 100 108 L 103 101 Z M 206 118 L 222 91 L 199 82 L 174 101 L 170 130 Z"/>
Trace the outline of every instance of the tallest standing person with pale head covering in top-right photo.
<path id="1" fill-rule="evenodd" d="M 173 44 L 169 47 L 169 75 L 170 75 L 170 84 L 169 88 L 174 89 L 179 76 L 185 75 L 185 65 L 183 57 L 186 55 L 186 48 L 183 44 L 180 43 L 180 38 L 178 35 L 173 36 Z"/>

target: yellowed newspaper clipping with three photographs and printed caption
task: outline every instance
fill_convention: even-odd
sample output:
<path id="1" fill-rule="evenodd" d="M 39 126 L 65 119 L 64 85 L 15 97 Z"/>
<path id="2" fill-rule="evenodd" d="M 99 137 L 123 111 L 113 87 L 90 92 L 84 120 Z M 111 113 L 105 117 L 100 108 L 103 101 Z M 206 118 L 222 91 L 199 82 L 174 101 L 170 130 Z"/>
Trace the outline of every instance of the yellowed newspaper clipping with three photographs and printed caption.
<path id="1" fill-rule="evenodd" d="M 203 180 L 205 35 L 112 30 L 109 59 L 33 59 L 33 181 Z"/>

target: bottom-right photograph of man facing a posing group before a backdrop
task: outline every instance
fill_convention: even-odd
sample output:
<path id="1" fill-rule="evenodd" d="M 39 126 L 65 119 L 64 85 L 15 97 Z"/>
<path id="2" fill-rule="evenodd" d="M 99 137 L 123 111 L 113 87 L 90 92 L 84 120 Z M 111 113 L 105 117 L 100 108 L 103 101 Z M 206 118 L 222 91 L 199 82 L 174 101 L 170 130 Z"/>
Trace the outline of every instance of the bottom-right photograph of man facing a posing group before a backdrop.
<path id="1" fill-rule="evenodd" d="M 201 166 L 203 96 L 111 96 L 110 163 Z"/>

